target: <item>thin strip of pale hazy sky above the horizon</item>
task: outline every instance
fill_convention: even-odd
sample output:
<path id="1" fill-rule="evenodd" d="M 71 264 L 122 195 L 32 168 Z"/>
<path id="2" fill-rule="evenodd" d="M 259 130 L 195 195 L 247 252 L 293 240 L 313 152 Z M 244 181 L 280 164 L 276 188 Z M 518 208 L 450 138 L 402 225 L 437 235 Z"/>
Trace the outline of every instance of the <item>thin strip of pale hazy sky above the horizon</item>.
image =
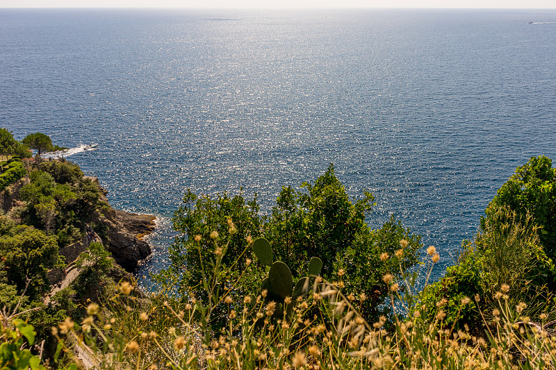
<path id="1" fill-rule="evenodd" d="M 556 8 L 556 0 L 0 0 L 0 8 Z"/>

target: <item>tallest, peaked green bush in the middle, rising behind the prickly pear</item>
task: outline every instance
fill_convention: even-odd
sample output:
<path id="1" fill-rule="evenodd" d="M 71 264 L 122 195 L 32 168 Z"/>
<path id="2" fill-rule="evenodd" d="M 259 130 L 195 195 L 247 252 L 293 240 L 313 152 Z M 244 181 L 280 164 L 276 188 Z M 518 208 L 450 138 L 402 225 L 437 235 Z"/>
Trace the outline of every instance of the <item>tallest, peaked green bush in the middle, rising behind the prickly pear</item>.
<path id="1" fill-rule="evenodd" d="M 365 215 L 374 197 L 365 192 L 352 203 L 330 165 L 315 183 L 303 183 L 306 192 L 283 187 L 272 217 L 265 224 L 265 235 L 279 260 L 288 264 L 294 275 L 306 271 L 309 258 L 322 260 L 322 275 L 328 278 L 336 261 L 365 230 Z"/>

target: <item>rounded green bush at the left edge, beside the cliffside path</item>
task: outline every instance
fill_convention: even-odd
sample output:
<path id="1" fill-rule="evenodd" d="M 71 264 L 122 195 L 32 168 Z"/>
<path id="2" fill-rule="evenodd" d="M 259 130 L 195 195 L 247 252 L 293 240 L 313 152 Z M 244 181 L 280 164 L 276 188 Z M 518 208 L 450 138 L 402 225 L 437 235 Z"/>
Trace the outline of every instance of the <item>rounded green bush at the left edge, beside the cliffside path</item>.
<path id="1" fill-rule="evenodd" d="M 47 291 L 47 271 L 64 265 L 56 237 L 30 226 L 14 226 L 0 235 L 0 254 L 7 283 L 22 291 L 29 279 L 27 294 L 32 299 Z"/>

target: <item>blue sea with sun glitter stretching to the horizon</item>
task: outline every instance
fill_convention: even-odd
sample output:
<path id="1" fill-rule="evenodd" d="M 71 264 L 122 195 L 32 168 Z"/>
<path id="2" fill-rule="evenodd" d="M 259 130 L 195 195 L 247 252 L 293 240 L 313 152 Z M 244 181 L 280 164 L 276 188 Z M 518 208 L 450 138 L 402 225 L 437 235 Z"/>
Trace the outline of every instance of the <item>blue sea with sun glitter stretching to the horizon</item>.
<path id="1" fill-rule="evenodd" d="M 530 24 L 529 22 L 534 22 Z M 0 126 L 44 132 L 115 208 L 158 216 L 166 263 L 184 190 L 259 195 L 334 163 L 370 226 L 395 215 L 438 278 L 528 158 L 556 160 L 554 10 L 0 9 Z M 142 279 L 149 285 L 149 279 Z"/>

